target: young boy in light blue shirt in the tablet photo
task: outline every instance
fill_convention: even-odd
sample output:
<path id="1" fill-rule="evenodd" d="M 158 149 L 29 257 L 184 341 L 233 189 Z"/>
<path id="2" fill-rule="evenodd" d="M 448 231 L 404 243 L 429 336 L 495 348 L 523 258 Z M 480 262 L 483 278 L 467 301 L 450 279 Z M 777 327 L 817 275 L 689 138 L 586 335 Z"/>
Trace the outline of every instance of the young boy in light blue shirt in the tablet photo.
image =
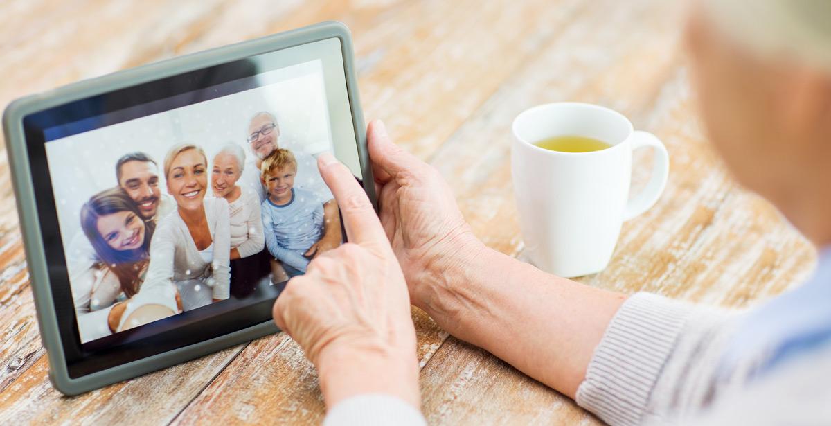
<path id="1" fill-rule="evenodd" d="M 310 260 L 304 254 L 323 235 L 323 203 L 311 191 L 294 187 L 292 151 L 274 150 L 260 173 L 267 193 L 261 209 L 265 245 L 289 277 L 304 274 Z"/>

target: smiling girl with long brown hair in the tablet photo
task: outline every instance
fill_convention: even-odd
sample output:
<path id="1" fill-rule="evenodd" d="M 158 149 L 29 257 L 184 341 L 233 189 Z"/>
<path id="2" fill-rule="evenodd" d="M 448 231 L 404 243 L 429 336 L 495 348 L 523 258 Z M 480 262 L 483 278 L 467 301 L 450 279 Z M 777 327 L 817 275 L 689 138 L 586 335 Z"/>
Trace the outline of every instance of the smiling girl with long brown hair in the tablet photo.
<path id="1" fill-rule="evenodd" d="M 70 283 L 82 342 L 116 330 L 121 302 L 144 280 L 154 228 L 120 188 L 101 191 L 81 207 L 81 230 L 101 260 Z"/>

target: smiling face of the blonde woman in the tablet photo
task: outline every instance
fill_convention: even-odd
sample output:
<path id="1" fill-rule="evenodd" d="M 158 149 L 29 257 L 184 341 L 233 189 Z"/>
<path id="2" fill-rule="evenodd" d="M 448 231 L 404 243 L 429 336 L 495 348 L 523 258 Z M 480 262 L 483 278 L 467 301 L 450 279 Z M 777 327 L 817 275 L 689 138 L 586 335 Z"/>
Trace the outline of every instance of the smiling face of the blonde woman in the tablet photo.
<path id="1" fill-rule="evenodd" d="M 208 189 L 208 165 L 204 156 L 194 149 L 179 152 L 170 162 L 167 191 L 180 209 L 198 210 Z"/>

